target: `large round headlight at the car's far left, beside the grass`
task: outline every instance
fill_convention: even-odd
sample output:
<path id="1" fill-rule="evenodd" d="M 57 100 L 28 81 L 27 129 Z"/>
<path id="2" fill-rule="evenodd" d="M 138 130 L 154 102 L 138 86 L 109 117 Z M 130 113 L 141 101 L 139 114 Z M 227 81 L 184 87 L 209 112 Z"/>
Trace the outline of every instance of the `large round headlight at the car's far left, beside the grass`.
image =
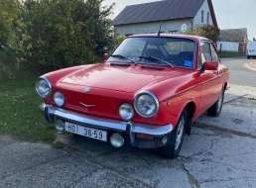
<path id="1" fill-rule="evenodd" d="M 46 77 L 40 77 L 36 82 L 36 90 L 39 96 L 48 98 L 52 93 L 52 84 Z"/>

